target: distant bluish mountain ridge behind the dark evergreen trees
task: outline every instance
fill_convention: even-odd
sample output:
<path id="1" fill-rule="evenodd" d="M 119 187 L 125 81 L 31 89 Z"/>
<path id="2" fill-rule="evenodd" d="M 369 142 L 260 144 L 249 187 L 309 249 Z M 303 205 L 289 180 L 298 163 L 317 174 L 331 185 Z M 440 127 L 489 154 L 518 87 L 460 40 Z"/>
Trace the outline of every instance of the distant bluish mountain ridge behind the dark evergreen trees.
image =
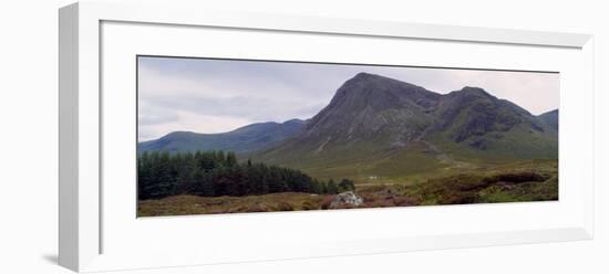
<path id="1" fill-rule="evenodd" d="M 221 134 L 174 131 L 159 139 L 137 144 L 137 152 L 152 150 L 194 151 L 231 150 L 238 154 L 258 150 L 298 134 L 306 122 L 291 119 L 285 123 L 258 123 Z"/>

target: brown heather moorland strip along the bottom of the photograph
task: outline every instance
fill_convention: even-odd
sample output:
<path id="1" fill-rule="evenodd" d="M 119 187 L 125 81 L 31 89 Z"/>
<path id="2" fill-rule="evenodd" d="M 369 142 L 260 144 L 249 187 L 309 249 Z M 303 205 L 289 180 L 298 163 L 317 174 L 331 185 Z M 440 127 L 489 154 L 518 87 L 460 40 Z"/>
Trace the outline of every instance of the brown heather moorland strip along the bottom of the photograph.
<path id="1" fill-rule="evenodd" d="M 412 207 L 558 200 L 557 160 L 529 160 L 430 178 L 422 182 L 355 186 L 357 208 Z M 298 192 L 246 197 L 174 196 L 138 201 L 138 217 L 245 213 L 354 208 L 336 205 L 334 194 Z"/>

